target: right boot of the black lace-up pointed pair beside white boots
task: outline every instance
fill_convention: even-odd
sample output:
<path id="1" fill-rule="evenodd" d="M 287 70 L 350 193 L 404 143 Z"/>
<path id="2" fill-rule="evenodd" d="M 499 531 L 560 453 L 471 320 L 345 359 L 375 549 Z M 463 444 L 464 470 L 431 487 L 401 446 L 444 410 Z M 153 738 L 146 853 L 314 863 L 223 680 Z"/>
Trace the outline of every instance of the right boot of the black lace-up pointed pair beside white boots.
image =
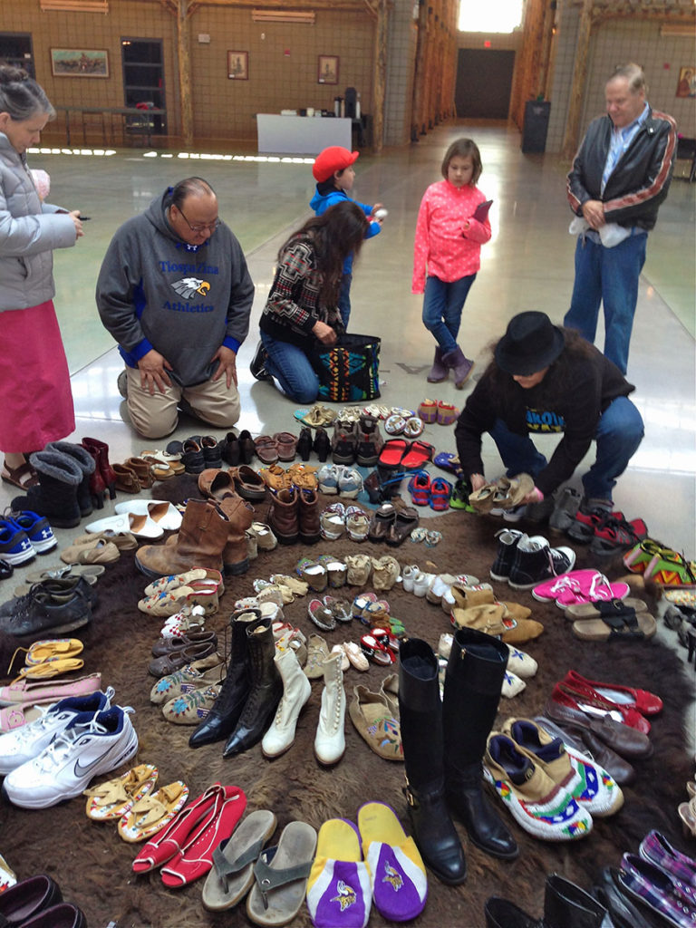
<path id="1" fill-rule="evenodd" d="M 227 739 L 223 757 L 234 757 L 261 741 L 283 695 L 283 681 L 274 662 L 276 642 L 270 618 L 247 625 L 251 689 L 238 723 Z"/>

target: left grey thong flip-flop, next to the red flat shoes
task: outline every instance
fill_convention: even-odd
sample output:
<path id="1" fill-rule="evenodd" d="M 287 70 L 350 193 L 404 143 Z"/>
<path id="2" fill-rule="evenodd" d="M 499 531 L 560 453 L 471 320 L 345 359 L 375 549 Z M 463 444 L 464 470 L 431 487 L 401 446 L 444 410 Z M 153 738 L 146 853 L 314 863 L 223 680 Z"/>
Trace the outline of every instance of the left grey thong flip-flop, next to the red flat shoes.
<path id="1" fill-rule="evenodd" d="M 276 831 L 277 818 L 268 809 L 251 812 L 231 838 L 213 851 L 213 870 L 203 885 L 202 903 L 213 912 L 232 909 L 253 884 L 253 864 Z"/>

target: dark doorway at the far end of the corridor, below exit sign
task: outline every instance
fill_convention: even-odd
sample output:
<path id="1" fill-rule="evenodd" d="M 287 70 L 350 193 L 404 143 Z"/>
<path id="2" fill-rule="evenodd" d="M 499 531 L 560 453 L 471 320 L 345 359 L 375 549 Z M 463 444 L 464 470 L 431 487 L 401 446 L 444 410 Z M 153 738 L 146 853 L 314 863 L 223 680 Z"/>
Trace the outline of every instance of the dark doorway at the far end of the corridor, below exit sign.
<path id="1" fill-rule="evenodd" d="M 513 51 L 460 48 L 455 106 L 460 118 L 508 119 Z"/>

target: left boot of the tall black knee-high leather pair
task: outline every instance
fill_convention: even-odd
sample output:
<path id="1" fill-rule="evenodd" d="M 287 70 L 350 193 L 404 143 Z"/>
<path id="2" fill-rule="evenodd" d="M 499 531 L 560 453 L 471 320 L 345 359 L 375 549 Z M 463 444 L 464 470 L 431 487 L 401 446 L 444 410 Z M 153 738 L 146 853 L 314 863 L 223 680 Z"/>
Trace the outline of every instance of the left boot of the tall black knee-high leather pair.
<path id="1" fill-rule="evenodd" d="M 406 800 L 420 854 L 443 883 L 463 883 L 467 864 L 445 805 L 443 707 L 437 658 L 419 638 L 399 649 L 399 717 L 406 767 Z"/>

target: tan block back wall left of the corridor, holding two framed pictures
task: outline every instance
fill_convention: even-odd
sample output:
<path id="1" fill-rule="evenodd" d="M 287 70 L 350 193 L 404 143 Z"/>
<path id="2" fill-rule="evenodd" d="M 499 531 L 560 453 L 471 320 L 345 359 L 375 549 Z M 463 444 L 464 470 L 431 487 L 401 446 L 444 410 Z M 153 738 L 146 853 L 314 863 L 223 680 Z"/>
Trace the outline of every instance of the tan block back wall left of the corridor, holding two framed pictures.
<path id="1" fill-rule="evenodd" d="M 333 111 L 333 98 L 353 86 L 363 112 L 372 107 L 375 20 L 329 13 L 317 4 L 315 25 L 257 23 L 251 9 L 201 6 L 190 19 L 194 133 L 197 138 L 254 139 L 257 112 L 314 107 Z M 122 107 L 121 39 L 163 40 L 170 131 L 180 133 L 176 20 L 156 3 L 111 2 L 108 15 L 42 13 L 38 0 L 0 0 L 0 30 L 31 32 L 36 78 L 54 105 Z M 199 34 L 211 37 L 199 42 Z M 106 48 L 107 80 L 51 75 L 49 49 Z M 227 77 L 227 51 L 249 52 L 249 80 Z M 317 82 L 319 55 L 340 58 L 338 84 Z M 50 127 L 49 127 L 50 129 Z"/>

